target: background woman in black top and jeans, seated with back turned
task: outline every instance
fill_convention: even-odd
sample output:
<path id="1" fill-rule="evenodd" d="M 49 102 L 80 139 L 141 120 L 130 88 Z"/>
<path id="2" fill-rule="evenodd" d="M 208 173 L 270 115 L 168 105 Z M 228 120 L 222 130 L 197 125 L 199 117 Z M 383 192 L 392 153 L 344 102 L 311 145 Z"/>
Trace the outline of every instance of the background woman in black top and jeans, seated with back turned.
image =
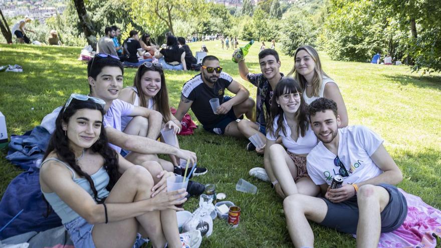
<path id="1" fill-rule="evenodd" d="M 185 63 L 185 51 L 180 48 L 176 37 L 167 37 L 167 47 L 155 52 L 156 59 L 162 64 L 162 68 L 167 70 L 187 70 Z"/>

